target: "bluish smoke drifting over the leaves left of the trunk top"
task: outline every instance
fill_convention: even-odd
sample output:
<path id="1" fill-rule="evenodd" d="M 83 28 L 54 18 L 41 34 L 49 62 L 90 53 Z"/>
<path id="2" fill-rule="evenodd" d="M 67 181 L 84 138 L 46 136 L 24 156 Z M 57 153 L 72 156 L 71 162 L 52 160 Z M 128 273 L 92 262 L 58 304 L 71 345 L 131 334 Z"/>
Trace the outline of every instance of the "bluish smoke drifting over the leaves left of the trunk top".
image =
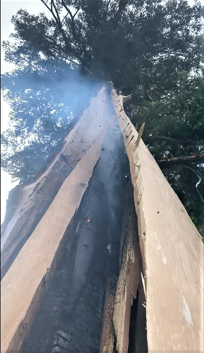
<path id="1" fill-rule="evenodd" d="M 8 129 L 1 136 L 1 167 L 21 182 L 35 176 L 61 147 L 103 80 L 65 61 L 1 76 L 10 104 Z"/>

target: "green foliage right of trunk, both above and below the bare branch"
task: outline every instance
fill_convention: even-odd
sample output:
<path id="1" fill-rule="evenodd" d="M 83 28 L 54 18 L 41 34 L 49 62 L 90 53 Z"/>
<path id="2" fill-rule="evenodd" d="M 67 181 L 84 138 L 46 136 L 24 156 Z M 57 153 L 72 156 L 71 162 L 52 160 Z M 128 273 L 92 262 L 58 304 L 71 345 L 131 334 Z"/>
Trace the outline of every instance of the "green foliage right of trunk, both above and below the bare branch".
<path id="1" fill-rule="evenodd" d="M 195 80 L 183 73 L 181 79 L 177 92 L 147 102 L 131 114 L 136 127 L 145 122 L 143 140 L 158 161 L 204 153 L 204 78 Z M 204 179 L 201 163 L 171 164 L 162 171 L 204 237 L 204 203 L 196 191 L 199 178 L 192 169 Z M 198 189 L 204 198 L 203 181 Z"/>

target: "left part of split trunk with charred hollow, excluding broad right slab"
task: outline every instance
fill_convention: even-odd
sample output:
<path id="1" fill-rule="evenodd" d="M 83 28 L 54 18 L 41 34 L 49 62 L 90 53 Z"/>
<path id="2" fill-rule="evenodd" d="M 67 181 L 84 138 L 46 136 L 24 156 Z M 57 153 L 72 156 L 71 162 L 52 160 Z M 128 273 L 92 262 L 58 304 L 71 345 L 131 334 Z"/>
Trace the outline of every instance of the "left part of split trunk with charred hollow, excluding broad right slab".
<path id="1" fill-rule="evenodd" d="M 115 298 L 118 277 L 117 298 L 129 298 L 128 344 L 137 222 L 129 162 L 104 89 L 47 170 L 17 190 L 16 209 L 1 234 L 1 353 L 104 352 L 107 285 Z M 136 263 L 134 293 L 139 257 Z M 143 350 L 145 315 L 143 308 Z M 117 340 L 110 322 L 106 352 Z"/>

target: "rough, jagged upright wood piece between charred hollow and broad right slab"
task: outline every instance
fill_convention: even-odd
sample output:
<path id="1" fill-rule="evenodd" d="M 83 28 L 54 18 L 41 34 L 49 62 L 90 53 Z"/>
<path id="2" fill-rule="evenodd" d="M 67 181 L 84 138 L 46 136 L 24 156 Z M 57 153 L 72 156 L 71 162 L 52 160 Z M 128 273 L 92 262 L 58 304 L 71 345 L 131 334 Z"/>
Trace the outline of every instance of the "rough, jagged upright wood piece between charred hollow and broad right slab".
<path id="1" fill-rule="evenodd" d="M 116 349 L 117 352 L 128 352 L 131 305 L 136 298 L 141 280 L 141 255 L 136 222 L 137 217 L 132 204 L 125 228 L 119 277 L 116 283 L 114 279 L 110 279 L 107 285 L 100 353 L 115 353 Z M 116 347 L 113 344 L 114 340 Z"/>

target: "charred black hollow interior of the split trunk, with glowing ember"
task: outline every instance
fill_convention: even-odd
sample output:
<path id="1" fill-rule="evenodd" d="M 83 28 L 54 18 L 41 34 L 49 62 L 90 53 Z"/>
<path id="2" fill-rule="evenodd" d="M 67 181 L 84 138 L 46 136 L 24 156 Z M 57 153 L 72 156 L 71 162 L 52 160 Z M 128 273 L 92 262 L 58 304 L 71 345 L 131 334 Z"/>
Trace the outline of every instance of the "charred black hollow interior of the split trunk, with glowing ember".
<path id="1" fill-rule="evenodd" d="M 129 162 L 116 126 L 61 241 L 23 353 L 99 352 L 107 283 L 112 278 L 116 290 L 132 203 Z"/>

